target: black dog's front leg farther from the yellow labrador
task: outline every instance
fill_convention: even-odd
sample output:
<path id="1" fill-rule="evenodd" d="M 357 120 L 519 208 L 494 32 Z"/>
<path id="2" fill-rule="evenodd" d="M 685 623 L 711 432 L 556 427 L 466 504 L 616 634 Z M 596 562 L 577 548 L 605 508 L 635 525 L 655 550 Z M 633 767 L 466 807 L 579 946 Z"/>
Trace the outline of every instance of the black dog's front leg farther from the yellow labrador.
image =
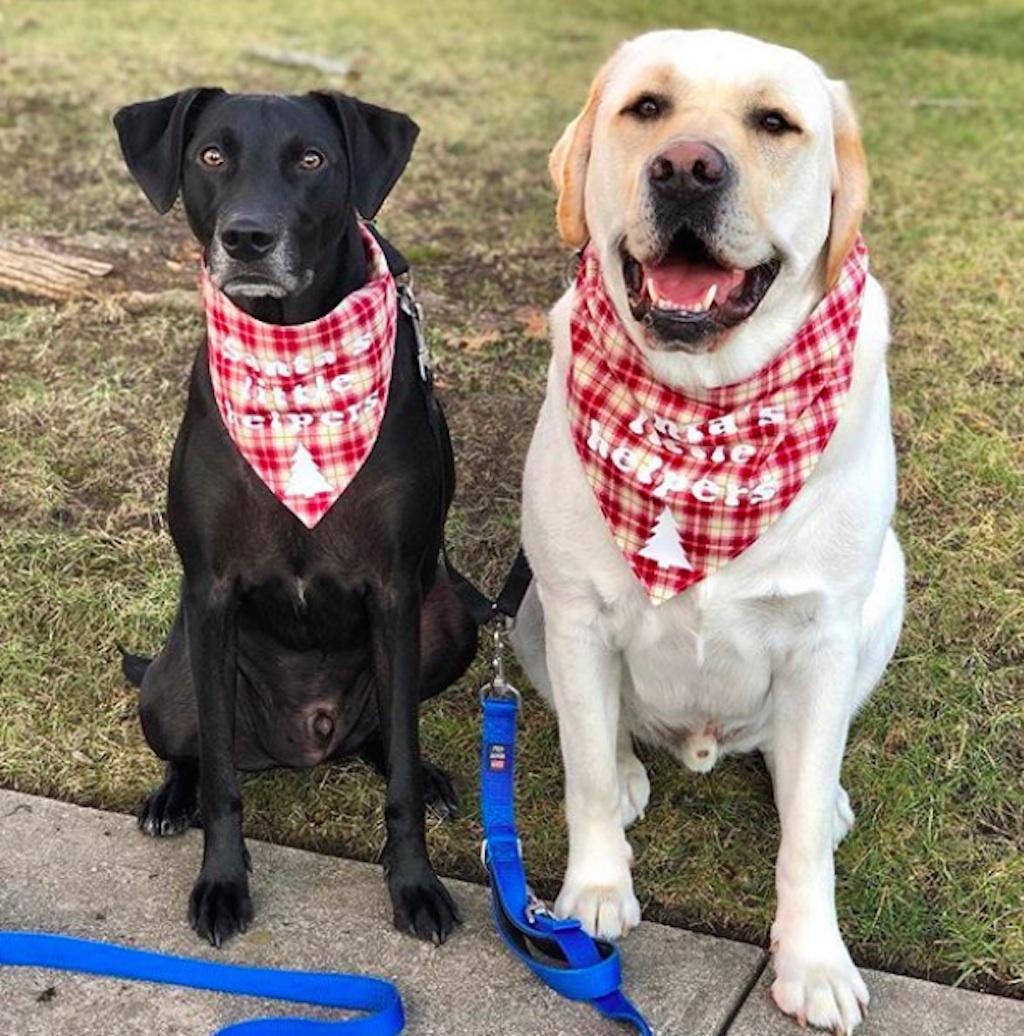
<path id="1" fill-rule="evenodd" d="M 237 596 L 224 582 L 190 586 L 186 631 L 199 716 L 203 865 L 189 900 L 192 927 L 215 946 L 253 919 L 241 796 L 234 770 Z"/>

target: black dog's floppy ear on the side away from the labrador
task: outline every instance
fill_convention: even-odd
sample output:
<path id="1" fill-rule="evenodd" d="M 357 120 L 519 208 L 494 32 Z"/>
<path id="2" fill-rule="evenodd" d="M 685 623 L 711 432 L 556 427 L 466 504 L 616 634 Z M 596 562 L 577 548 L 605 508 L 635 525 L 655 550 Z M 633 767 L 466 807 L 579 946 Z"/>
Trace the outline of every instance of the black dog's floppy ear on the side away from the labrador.
<path id="1" fill-rule="evenodd" d="M 166 212 L 181 186 L 181 149 L 191 115 L 199 104 L 223 90 L 194 86 L 158 100 L 143 100 L 122 108 L 114 116 L 121 153 L 158 212 Z"/>

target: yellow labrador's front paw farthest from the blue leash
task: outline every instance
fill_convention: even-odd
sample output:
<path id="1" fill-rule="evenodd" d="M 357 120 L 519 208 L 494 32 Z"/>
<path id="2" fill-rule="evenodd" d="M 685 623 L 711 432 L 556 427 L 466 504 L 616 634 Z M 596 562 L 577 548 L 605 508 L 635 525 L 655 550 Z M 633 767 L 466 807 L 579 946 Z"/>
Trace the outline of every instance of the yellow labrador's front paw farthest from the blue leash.
<path id="1" fill-rule="evenodd" d="M 838 932 L 787 938 L 773 933 L 775 981 L 771 995 L 801 1025 L 849 1036 L 871 999 Z"/>

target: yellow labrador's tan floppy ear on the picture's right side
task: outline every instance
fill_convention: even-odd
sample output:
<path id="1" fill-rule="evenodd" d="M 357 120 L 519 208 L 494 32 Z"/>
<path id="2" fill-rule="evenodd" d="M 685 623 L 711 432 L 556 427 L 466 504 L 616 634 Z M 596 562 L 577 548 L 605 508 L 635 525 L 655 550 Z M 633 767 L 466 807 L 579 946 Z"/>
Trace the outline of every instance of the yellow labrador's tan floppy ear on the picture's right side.
<path id="1" fill-rule="evenodd" d="M 831 290 L 860 231 L 867 207 L 867 160 L 860 127 L 845 83 L 829 82 L 832 94 L 835 168 L 832 173 L 832 223 L 828 232 L 825 285 Z"/>

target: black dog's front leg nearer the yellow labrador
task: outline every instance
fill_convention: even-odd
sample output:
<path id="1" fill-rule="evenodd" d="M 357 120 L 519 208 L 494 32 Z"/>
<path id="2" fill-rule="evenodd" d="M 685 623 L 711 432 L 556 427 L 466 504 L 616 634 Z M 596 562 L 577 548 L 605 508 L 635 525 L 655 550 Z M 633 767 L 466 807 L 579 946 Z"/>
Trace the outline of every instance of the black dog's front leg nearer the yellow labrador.
<path id="1" fill-rule="evenodd" d="M 458 910 L 427 856 L 420 762 L 420 594 L 408 580 L 371 598 L 373 668 L 383 735 L 388 841 L 382 854 L 395 927 L 444 943 Z"/>

